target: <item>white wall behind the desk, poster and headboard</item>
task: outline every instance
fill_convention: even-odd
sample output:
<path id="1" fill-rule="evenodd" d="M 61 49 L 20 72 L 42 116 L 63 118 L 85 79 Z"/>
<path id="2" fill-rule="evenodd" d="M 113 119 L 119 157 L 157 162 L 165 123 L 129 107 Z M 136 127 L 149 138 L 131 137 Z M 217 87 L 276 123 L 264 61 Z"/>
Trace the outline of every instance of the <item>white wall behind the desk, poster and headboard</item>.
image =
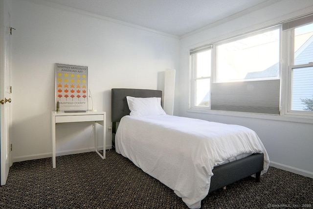
<path id="1" fill-rule="evenodd" d="M 173 36 L 43 0 L 14 0 L 12 13 L 15 162 L 51 156 L 55 63 L 89 67 L 93 106 L 107 112 L 107 126 L 111 126 L 112 88 L 163 90 L 165 69 L 179 66 L 179 39 Z M 58 125 L 57 151 L 92 150 L 91 130 L 90 123 Z M 111 137 L 107 132 L 107 148 Z"/>

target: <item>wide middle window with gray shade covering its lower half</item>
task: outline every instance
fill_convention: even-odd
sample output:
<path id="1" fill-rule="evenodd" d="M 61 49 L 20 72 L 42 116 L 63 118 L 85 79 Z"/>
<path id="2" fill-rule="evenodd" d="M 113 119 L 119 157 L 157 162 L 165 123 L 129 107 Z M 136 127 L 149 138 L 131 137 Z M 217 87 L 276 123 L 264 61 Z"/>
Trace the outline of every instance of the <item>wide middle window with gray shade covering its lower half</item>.
<path id="1" fill-rule="evenodd" d="M 211 109 L 280 113 L 280 27 L 270 27 L 216 45 Z"/>

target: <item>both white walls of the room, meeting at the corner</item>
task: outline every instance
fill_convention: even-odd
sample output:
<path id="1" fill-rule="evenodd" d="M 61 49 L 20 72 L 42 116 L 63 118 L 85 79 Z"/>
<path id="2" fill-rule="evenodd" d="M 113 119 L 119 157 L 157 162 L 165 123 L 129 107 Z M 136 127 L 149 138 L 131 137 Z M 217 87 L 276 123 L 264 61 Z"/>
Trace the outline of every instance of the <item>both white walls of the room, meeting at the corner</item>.
<path id="1" fill-rule="evenodd" d="M 270 5 L 272 2 L 276 3 Z M 174 115 L 252 128 L 264 142 L 272 165 L 313 177 L 312 124 L 187 112 L 190 47 L 312 11 L 312 0 L 301 0 L 301 4 L 269 1 L 258 10 L 247 10 L 179 41 L 46 2 L 12 1 L 11 21 L 16 28 L 12 35 L 14 161 L 51 156 L 55 63 L 89 67 L 94 108 L 107 112 L 108 126 L 111 88 L 163 90 L 164 70 L 176 69 Z M 89 123 L 58 126 L 57 150 L 88 151 L 94 146 L 92 137 Z M 111 145 L 110 133 L 106 145 Z"/>

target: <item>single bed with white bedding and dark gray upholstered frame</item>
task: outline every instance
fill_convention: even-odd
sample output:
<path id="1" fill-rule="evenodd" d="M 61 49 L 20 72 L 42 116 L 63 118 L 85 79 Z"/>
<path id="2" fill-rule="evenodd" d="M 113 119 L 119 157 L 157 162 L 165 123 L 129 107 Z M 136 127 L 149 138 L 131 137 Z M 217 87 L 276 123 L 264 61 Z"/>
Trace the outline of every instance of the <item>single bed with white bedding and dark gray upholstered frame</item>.
<path id="1" fill-rule="evenodd" d="M 201 208 L 201 200 L 209 192 L 248 176 L 255 175 L 256 182 L 260 182 L 269 160 L 254 131 L 164 114 L 130 116 L 135 111 L 133 104 L 129 107 L 128 99 L 158 98 L 160 104 L 161 97 L 162 92 L 157 90 L 112 89 L 112 144 L 117 153 L 173 189 L 189 208 Z M 219 136 L 220 142 L 214 139 L 215 142 L 207 145 L 206 129 L 210 130 L 210 136 Z M 232 140 L 242 136 L 244 139 L 240 140 L 245 143 L 232 144 Z"/>

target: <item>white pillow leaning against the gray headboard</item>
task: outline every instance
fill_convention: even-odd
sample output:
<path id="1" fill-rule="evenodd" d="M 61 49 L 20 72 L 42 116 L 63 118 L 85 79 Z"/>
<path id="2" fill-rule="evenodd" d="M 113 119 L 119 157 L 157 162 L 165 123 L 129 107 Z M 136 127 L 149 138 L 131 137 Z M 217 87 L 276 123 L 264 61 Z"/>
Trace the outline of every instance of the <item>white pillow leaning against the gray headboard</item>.
<path id="1" fill-rule="evenodd" d="M 160 97 L 132 97 L 126 96 L 130 116 L 159 116 L 166 115 L 161 107 Z"/>

